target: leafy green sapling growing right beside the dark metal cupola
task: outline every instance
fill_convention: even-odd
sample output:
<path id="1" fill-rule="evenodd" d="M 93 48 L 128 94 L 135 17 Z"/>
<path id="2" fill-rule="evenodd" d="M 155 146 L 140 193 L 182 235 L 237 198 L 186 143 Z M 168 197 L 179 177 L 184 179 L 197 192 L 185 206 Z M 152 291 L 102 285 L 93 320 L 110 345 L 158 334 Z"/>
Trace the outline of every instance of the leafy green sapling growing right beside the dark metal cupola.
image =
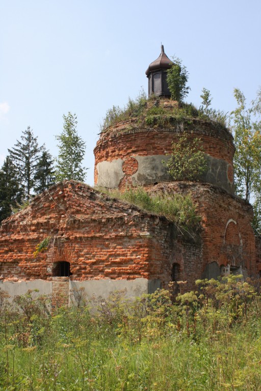
<path id="1" fill-rule="evenodd" d="M 187 86 L 189 73 L 185 66 L 182 66 L 180 59 L 172 57 L 173 64 L 167 69 L 167 83 L 171 93 L 171 99 L 183 102 L 188 95 L 190 87 Z"/>

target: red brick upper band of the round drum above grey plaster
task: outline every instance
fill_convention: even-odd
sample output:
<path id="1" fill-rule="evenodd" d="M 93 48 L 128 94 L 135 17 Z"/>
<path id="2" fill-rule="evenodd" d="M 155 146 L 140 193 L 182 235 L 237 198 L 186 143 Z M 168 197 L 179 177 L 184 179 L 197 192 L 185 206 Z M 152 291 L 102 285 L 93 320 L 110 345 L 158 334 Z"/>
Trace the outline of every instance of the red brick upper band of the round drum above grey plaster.
<path id="1" fill-rule="evenodd" d="M 230 163 L 229 175 L 232 179 L 234 146 L 232 135 L 227 129 L 217 128 L 200 120 L 194 120 L 189 124 L 185 123 L 182 130 L 176 127 L 140 129 L 137 126 L 135 128 L 135 121 L 137 120 L 121 122 L 101 134 L 94 149 L 94 183 L 97 183 L 96 165 L 99 162 L 120 158 L 124 160 L 124 167 L 125 160 L 133 155 L 166 155 L 171 153 L 172 142 L 177 141 L 177 132 L 182 131 L 188 132 L 191 139 L 201 138 L 205 153 Z M 131 175 L 132 173 L 127 172 L 127 174 Z"/>

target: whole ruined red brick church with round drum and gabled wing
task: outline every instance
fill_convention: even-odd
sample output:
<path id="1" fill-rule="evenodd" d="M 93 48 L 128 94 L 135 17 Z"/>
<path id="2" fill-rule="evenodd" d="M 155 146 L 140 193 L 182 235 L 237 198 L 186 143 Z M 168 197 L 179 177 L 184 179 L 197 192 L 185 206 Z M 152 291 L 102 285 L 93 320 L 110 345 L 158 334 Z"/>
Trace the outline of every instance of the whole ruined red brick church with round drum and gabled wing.
<path id="1" fill-rule="evenodd" d="M 147 71 L 149 97 L 163 111 L 173 105 L 166 81 L 170 67 L 162 46 Z M 178 135 L 203 143 L 208 168 L 200 182 L 171 181 L 163 164 Z M 95 187 L 65 181 L 37 195 L 31 204 L 4 220 L 0 229 L 0 288 L 11 295 L 39 289 L 68 302 L 73 288 L 106 296 L 118 289 L 128 296 L 153 292 L 171 281 L 240 273 L 259 277 L 259 240 L 251 228 L 252 207 L 234 194 L 233 137 L 211 121 L 192 118 L 156 129 L 139 119 L 109 126 L 94 149 Z M 112 199 L 99 187 L 190 193 L 201 216 L 201 229 L 181 235 L 164 216 Z M 48 238 L 43 252 L 37 244 Z"/>

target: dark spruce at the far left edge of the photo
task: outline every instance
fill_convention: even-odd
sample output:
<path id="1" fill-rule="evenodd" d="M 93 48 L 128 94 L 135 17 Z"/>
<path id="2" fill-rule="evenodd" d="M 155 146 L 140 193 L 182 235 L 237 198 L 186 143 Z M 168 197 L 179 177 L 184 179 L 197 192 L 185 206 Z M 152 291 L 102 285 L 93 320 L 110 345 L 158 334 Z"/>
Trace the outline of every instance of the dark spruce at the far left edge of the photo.
<path id="1" fill-rule="evenodd" d="M 12 214 L 12 207 L 22 201 L 22 191 L 17 180 L 17 171 L 9 156 L 0 170 L 0 221 Z"/>

